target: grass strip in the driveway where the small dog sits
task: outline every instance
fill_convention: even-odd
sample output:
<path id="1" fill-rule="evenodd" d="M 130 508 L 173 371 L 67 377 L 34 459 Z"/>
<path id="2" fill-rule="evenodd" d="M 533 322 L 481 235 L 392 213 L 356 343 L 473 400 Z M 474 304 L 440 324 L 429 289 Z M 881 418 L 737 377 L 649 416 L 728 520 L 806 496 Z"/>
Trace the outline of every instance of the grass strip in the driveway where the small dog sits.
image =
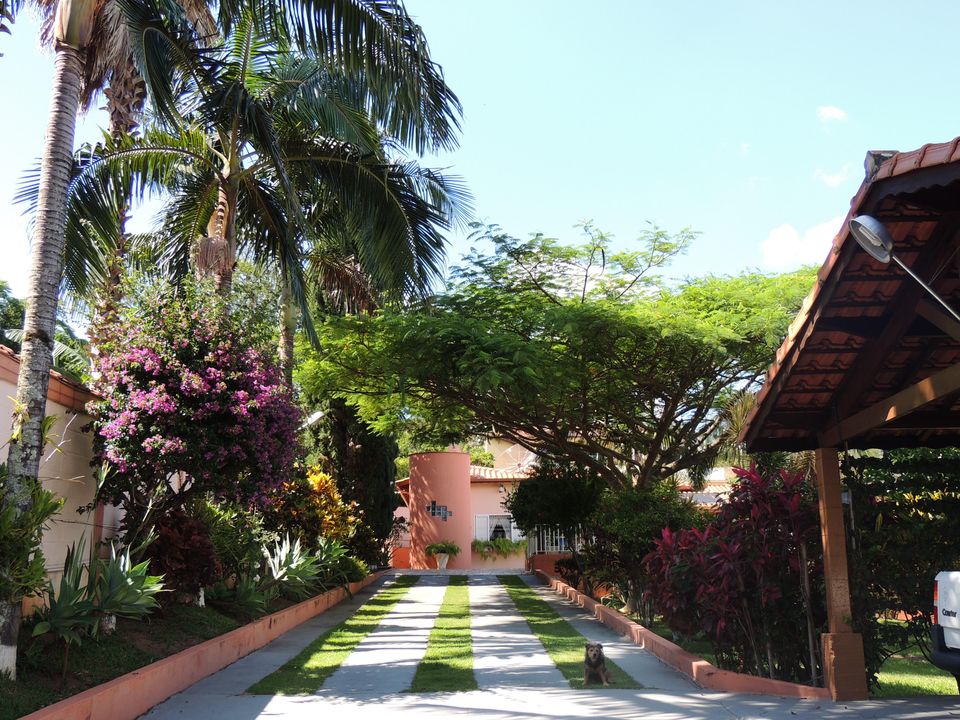
<path id="1" fill-rule="evenodd" d="M 507 589 L 513 604 L 543 644 L 557 669 L 570 683 L 570 687 L 583 688 L 583 652 L 588 640 L 560 617 L 556 610 L 537 597 L 533 588 L 521 578 L 516 575 L 499 575 L 497 579 Z M 643 687 L 610 658 L 607 658 L 607 669 L 610 671 L 610 684 L 613 687 Z M 589 687 L 599 688 L 602 685 L 591 683 Z"/>

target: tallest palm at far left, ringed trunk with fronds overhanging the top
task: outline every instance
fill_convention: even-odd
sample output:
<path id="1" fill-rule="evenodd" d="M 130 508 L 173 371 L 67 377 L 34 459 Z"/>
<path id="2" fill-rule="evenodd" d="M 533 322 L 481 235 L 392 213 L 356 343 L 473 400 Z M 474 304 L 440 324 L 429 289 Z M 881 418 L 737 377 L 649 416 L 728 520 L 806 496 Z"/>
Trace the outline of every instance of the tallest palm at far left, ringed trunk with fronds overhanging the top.
<path id="1" fill-rule="evenodd" d="M 23 0 L 5 0 L 4 16 L 9 20 L 22 8 Z M 63 270 L 64 230 L 67 222 L 67 189 L 73 160 L 76 114 L 80 104 L 85 68 L 95 65 L 88 57 L 91 40 L 98 27 L 98 11 L 118 9 L 128 25 L 146 19 L 158 27 L 160 18 L 178 21 L 176 42 L 162 33 L 148 33 L 131 45 L 136 67 L 155 93 L 154 102 L 161 113 L 174 105 L 169 62 L 171 53 L 197 43 L 206 30 L 187 22 L 182 7 L 172 3 L 137 0 L 70 0 L 57 2 L 53 10 L 51 37 L 56 48 L 55 79 L 51 111 L 39 174 L 39 192 L 35 237 L 31 258 L 28 310 L 24 323 L 24 342 L 12 423 L 8 457 L 8 478 L 0 502 L 15 509 L 19 517 L 31 504 L 32 488 L 37 483 L 42 453 L 41 421 L 44 416 L 53 336 L 57 316 L 58 288 Z M 206 8 L 194 3 L 191 8 Z M 290 41 L 316 52 L 334 66 L 348 68 L 363 78 L 371 107 L 387 118 L 388 130 L 412 146 L 450 147 L 456 142 L 459 102 L 443 82 L 442 73 L 430 60 L 420 28 L 409 18 L 400 2 L 394 0 L 228 0 L 218 5 L 220 27 L 231 31 L 240 10 L 276 42 Z M 122 23 L 115 23 L 119 27 Z M 123 35 L 121 32 L 120 35 Z M 109 33 L 105 33 L 109 44 Z M 127 37 L 127 36 L 124 36 Z M 120 53 L 120 55 L 123 55 Z M 95 73 L 91 75 L 95 77 Z M 136 87 L 123 87 L 119 77 L 114 85 L 117 98 L 137 98 Z M 111 94 L 114 94 L 111 91 Z M 119 121 L 118 121 L 119 122 Z M 229 168 L 228 168 L 229 170 Z M 222 207 L 231 202 L 232 187 L 224 188 Z M 235 221 L 225 213 L 216 214 L 212 229 L 230 236 Z M 209 237 L 209 235 L 208 235 Z M 217 237 L 215 234 L 214 237 Z M 225 238 L 221 238 L 224 240 Z M 5 608 L 0 608 L 0 611 Z M 13 638 L 18 628 L 11 626 L 13 613 L 0 612 L 0 636 Z M 15 673 L 15 667 L 0 667 L 0 672 Z"/>

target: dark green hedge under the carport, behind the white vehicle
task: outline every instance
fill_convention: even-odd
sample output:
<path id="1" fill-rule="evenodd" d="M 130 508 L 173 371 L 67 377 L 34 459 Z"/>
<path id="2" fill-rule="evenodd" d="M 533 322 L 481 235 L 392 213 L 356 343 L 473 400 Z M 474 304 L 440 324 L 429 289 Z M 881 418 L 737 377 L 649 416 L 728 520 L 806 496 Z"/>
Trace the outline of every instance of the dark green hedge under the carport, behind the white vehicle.
<path id="1" fill-rule="evenodd" d="M 929 658 L 933 581 L 960 568 L 960 450 L 847 454 L 852 496 L 846 523 L 853 626 L 863 636 L 867 674 L 877 683 L 891 656 Z M 885 622 L 903 614 L 906 622 Z"/>

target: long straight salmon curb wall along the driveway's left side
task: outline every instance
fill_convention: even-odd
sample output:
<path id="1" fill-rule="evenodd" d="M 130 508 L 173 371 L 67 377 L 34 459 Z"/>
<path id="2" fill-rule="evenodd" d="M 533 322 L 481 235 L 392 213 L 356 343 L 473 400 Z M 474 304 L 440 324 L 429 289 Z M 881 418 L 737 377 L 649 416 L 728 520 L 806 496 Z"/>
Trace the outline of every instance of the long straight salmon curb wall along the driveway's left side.
<path id="1" fill-rule="evenodd" d="M 350 584 L 356 593 L 378 580 L 375 573 Z M 347 597 L 337 588 L 254 620 L 248 625 L 182 650 L 102 685 L 41 708 L 21 720 L 133 720 L 171 695 L 259 650 Z"/>

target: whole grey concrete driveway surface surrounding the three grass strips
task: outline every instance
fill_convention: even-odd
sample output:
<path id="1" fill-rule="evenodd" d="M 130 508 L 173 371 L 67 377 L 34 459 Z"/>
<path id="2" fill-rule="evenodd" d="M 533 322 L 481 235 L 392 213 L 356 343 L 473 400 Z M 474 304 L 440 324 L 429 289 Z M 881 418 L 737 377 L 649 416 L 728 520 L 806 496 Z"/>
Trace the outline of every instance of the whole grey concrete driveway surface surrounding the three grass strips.
<path id="1" fill-rule="evenodd" d="M 151 720 L 318 720 L 358 718 L 447 718 L 484 720 L 543 718 L 631 718 L 645 720 L 730 720 L 731 718 L 899 718 L 960 719 L 960 702 L 921 698 L 835 704 L 704 691 L 685 675 L 619 638 L 572 603 L 524 576 L 578 632 L 602 642 L 608 656 L 643 685 L 638 690 L 574 690 L 518 615 L 506 591 L 489 574 L 470 576 L 471 633 L 478 690 L 413 694 L 410 685 L 425 649 L 447 578 L 424 575 L 311 696 L 247 695 L 317 635 L 349 617 L 384 583 L 358 593 L 270 645 L 158 705 Z"/>

